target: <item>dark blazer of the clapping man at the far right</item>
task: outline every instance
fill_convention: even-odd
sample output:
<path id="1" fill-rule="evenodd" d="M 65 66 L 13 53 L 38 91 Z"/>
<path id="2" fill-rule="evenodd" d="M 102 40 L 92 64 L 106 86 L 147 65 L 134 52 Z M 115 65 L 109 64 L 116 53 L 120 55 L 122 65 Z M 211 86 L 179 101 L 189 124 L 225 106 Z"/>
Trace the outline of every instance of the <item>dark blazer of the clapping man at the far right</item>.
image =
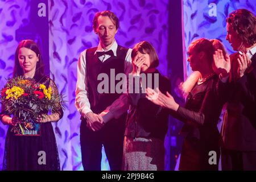
<path id="1" fill-rule="evenodd" d="M 218 82 L 222 99 L 227 102 L 221 146 L 229 150 L 256 151 L 256 54 L 251 58 L 251 67 L 238 79 L 232 77 L 237 71 L 236 55 L 230 56 L 233 59 L 229 82 Z"/>

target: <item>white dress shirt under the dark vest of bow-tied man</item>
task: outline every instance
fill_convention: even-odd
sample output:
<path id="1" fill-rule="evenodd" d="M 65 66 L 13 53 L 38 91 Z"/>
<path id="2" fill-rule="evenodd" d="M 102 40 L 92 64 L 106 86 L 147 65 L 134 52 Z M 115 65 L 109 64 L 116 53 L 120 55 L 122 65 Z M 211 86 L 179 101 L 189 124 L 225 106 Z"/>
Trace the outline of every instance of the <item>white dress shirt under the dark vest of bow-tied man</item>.
<path id="1" fill-rule="evenodd" d="M 98 44 L 96 52 L 102 52 L 102 51 L 109 51 L 112 50 L 114 53 L 114 56 L 117 56 L 117 42 L 115 42 L 113 45 L 108 49 L 104 50 L 101 47 L 101 44 Z M 131 73 L 133 70 L 133 67 L 131 65 L 131 51 L 132 49 L 129 49 L 127 51 L 126 57 L 125 57 L 125 74 L 126 76 Z M 95 52 L 95 53 L 96 53 Z M 102 63 L 109 59 L 111 57 L 110 55 L 102 55 L 98 57 Z M 86 76 L 86 49 L 85 51 L 81 52 L 78 63 L 77 63 L 77 84 L 76 84 L 76 100 L 75 105 L 79 113 L 84 116 L 86 113 L 92 112 L 90 109 L 90 102 L 88 99 L 88 79 Z M 101 116 L 104 115 L 104 122 L 108 122 L 112 118 L 119 118 L 125 111 L 127 111 L 129 108 L 129 104 L 127 101 L 127 94 L 122 94 L 117 100 L 113 102 L 112 105 L 108 106 L 104 111 L 102 111 Z M 98 114 L 98 113 L 96 113 Z"/>

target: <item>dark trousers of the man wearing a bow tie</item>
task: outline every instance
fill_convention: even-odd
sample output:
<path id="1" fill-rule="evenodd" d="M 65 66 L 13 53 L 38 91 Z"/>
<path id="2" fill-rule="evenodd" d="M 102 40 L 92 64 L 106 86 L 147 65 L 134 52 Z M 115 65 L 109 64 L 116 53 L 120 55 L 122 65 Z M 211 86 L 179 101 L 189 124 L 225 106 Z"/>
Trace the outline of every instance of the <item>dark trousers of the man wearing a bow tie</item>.
<path id="1" fill-rule="evenodd" d="M 81 121 L 80 142 L 82 153 L 82 166 L 85 171 L 101 170 L 102 144 L 105 148 L 110 170 L 119 171 L 122 167 L 123 134 L 125 120 L 118 119 L 106 123 L 99 131 L 92 131 Z"/>

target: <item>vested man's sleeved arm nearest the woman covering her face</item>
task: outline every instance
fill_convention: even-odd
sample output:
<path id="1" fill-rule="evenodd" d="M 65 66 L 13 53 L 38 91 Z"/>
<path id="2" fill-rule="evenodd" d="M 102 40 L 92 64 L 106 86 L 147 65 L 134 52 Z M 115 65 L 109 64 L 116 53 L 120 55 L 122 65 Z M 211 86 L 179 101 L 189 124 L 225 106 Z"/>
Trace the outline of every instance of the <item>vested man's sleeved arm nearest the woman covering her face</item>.
<path id="1" fill-rule="evenodd" d="M 131 51 L 132 49 L 129 49 L 125 57 L 125 75 L 127 77 L 129 77 L 129 73 L 133 70 L 131 65 Z M 123 113 L 127 112 L 128 109 L 128 97 L 126 93 L 123 93 L 112 103 L 112 105 L 106 107 L 106 109 L 101 112 L 100 116 L 103 118 L 104 123 L 106 123 L 113 118 L 119 118 Z"/>

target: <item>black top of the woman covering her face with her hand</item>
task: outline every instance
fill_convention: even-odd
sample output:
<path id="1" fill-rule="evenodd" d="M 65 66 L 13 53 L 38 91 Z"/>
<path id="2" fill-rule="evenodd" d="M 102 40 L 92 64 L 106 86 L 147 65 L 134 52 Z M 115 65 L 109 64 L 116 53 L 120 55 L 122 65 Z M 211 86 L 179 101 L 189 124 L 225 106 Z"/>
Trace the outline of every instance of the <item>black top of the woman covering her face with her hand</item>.
<path id="1" fill-rule="evenodd" d="M 148 77 L 147 73 L 147 78 Z M 159 89 L 162 93 L 171 92 L 171 82 L 168 78 L 163 77 L 158 70 L 152 73 L 152 85 L 154 88 L 154 75 L 159 74 Z M 168 110 L 155 105 L 147 100 L 146 94 L 142 92 L 139 84 L 139 93 L 136 93 L 138 85 L 133 84 L 134 92 L 128 94 L 130 108 L 126 119 L 125 136 L 132 138 L 158 138 L 164 140 L 168 129 Z M 130 86 L 130 85 L 129 85 Z"/>

